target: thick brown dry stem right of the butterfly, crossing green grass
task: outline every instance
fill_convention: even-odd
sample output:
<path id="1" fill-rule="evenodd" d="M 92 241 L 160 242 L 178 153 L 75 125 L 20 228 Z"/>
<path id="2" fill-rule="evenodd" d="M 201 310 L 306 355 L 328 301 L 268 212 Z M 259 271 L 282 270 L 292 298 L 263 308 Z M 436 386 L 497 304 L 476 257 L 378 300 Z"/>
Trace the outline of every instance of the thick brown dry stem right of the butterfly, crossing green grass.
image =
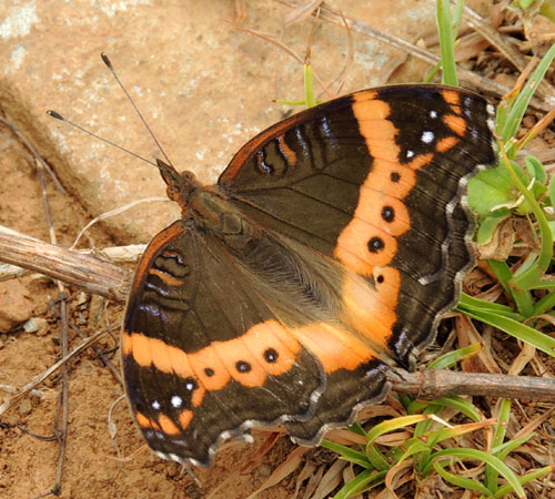
<path id="1" fill-rule="evenodd" d="M 417 373 L 397 370 L 390 379 L 394 391 L 428 400 L 451 395 L 483 395 L 555 401 L 555 378 L 430 369 Z"/>

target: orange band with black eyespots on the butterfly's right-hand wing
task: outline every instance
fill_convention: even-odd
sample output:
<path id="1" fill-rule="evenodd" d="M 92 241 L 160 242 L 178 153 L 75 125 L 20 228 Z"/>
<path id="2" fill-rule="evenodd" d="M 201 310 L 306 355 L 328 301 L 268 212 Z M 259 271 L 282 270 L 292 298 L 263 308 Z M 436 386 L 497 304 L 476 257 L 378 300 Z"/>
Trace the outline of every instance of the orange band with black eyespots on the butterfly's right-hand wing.
<path id="1" fill-rule="evenodd" d="M 458 94 L 447 95 L 452 103 Z M 401 274 L 391 267 L 397 254 L 397 240 L 411 228 L 403 200 L 415 186 L 415 172 L 430 164 L 434 152 L 401 162 L 398 130 L 389 120 L 391 108 L 367 94 L 354 95 L 353 113 L 366 142 L 372 163 L 359 195 L 351 222 L 337 238 L 334 256 L 356 274 L 373 278 L 374 286 L 356 275 L 347 275 L 343 285 L 343 320 L 369 339 L 379 352 L 387 350 L 395 307 L 401 291 Z M 458 132 L 456 116 L 447 122 Z M 452 146 L 445 142 L 442 147 Z"/>

